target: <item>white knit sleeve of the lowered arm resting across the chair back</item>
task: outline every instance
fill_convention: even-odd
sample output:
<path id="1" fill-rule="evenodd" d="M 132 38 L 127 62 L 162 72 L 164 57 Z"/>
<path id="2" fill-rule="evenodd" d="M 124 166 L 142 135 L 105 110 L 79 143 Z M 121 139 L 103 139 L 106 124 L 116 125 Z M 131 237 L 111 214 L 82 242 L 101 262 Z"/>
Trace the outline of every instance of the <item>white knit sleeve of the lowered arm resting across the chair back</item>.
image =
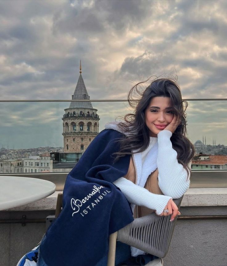
<path id="1" fill-rule="evenodd" d="M 124 177 L 114 181 L 114 185 L 121 189 L 128 202 L 156 210 L 157 214 L 163 212 L 167 202 L 171 199 L 168 196 L 153 194 Z"/>

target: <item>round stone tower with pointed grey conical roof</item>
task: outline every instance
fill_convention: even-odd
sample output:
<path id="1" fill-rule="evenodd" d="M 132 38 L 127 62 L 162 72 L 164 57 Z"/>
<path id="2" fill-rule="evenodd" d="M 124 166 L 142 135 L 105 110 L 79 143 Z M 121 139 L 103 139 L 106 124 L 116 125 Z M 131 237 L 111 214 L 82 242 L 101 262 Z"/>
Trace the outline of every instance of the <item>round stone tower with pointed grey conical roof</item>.
<path id="1" fill-rule="evenodd" d="M 81 75 L 76 84 L 72 100 L 90 100 Z M 71 102 L 63 115 L 64 152 L 83 153 L 98 134 L 99 115 L 91 102 Z"/>

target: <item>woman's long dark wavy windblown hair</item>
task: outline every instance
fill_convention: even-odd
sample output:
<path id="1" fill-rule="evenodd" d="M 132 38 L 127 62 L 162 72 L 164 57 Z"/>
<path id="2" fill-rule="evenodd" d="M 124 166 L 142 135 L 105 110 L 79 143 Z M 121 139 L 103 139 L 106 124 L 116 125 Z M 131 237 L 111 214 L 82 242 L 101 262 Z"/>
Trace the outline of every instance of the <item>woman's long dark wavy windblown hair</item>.
<path id="1" fill-rule="evenodd" d="M 189 176 L 191 169 L 188 167 L 188 163 L 192 160 L 195 149 L 186 137 L 187 120 L 185 111 L 188 107 L 188 102 L 182 100 L 180 87 L 176 81 L 167 78 L 155 79 L 145 91 L 141 91 L 141 85 L 147 81 L 134 85 L 128 94 L 128 102 L 134 108 L 134 112 L 126 114 L 122 118 L 123 122 L 118 124 L 122 132 L 128 133 L 127 137 L 119 140 L 120 150 L 115 153 L 117 155 L 116 159 L 126 154 L 131 154 L 131 150 L 142 152 L 148 147 L 150 136 L 149 129 L 145 123 L 145 110 L 152 98 L 157 96 L 169 97 L 172 110 L 177 118 L 180 119 L 180 124 L 171 136 L 172 146 L 177 152 L 178 163 L 183 165 Z M 135 95 L 139 97 L 135 99 Z"/>

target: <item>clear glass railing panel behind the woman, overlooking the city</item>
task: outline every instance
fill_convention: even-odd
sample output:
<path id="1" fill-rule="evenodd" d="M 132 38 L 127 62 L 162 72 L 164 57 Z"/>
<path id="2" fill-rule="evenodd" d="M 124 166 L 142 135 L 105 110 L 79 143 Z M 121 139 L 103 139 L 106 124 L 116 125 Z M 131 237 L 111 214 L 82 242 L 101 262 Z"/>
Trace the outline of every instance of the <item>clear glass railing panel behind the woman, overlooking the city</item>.
<path id="1" fill-rule="evenodd" d="M 106 123 L 131 112 L 126 100 L 91 101 L 97 111 L 68 110 L 70 102 L 0 102 L 0 175 L 67 173 Z M 226 111 L 226 99 L 188 99 L 191 187 L 227 187 Z"/>

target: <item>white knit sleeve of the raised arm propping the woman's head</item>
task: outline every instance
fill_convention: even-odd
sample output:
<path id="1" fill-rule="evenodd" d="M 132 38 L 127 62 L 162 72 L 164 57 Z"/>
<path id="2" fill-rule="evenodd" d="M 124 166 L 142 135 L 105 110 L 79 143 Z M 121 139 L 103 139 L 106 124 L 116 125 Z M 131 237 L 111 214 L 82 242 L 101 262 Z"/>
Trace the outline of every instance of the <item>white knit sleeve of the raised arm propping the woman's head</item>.
<path id="1" fill-rule="evenodd" d="M 171 136 L 172 132 L 168 130 L 158 133 L 159 188 L 164 195 L 179 198 L 187 191 L 190 181 L 187 171 L 178 163 L 177 152 L 172 148 Z"/>

